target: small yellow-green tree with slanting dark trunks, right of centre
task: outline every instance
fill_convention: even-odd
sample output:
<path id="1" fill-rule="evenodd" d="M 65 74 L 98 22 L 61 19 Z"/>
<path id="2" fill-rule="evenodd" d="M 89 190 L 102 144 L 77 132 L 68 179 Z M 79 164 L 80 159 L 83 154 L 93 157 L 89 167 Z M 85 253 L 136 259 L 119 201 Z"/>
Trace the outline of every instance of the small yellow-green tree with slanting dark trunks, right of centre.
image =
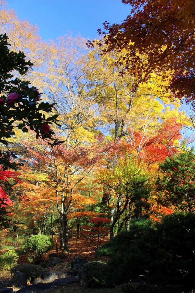
<path id="1" fill-rule="evenodd" d="M 154 180 L 152 173 L 135 156 L 126 154 L 125 158 L 118 158 L 113 168 L 104 169 L 99 178 L 111 207 L 111 237 L 116 229 L 119 232 L 131 218 L 147 217 Z"/>

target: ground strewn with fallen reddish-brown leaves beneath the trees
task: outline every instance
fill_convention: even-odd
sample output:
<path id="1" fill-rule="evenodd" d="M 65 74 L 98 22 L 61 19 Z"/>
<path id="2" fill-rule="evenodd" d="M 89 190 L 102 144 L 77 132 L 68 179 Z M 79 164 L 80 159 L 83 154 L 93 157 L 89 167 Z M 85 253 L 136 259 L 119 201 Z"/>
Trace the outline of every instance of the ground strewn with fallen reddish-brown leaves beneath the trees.
<path id="1" fill-rule="evenodd" d="M 105 237 L 104 241 L 108 241 L 109 237 Z M 10 249 L 10 248 L 9 248 Z M 3 254 L 5 250 L 0 249 L 0 254 Z M 55 248 L 49 250 L 49 252 L 44 256 L 44 261 L 46 261 L 49 258 L 49 254 L 52 252 L 56 252 Z M 107 261 L 107 257 L 96 257 L 95 256 L 95 250 L 93 247 L 90 247 L 87 243 L 85 238 L 80 237 L 77 238 L 71 238 L 69 240 L 69 252 L 66 254 L 67 258 L 65 258 L 63 261 L 64 263 L 55 265 L 54 267 L 48 267 L 48 271 L 66 271 L 71 270 L 71 262 L 75 257 L 82 257 L 86 258 L 87 261 Z M 26 255 L 21 255 L 19 259 L 19 264 L 22 263 L 29 263 L 29 261 L 26 258 Z M 41 265 L 41 264 L 40 264 Z M 11 279 L 10 271 L 0 272 L 0 282 L 9 282 Z M 116 286 L 114 288 L 86 288 L 83 284 L 73 284 L 64 287 L 57 287 L 52 290 L 47 291 L 48 293 L 122 293 L 122 285 Z"/>

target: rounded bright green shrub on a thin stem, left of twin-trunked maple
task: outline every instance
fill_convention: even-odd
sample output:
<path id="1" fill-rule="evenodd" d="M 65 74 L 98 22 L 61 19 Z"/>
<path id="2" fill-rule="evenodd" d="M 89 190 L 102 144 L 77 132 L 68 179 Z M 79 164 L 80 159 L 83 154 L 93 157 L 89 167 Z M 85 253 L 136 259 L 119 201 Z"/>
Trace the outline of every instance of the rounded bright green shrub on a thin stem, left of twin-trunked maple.
<path id="1" fill-rule="evenodd" d="M 28 252 L 36 263 L 41 262 L 42 255 L 54 246 L 52 238 L 45 235 L 33 235 L 24 245 L 24 251 Z"/>

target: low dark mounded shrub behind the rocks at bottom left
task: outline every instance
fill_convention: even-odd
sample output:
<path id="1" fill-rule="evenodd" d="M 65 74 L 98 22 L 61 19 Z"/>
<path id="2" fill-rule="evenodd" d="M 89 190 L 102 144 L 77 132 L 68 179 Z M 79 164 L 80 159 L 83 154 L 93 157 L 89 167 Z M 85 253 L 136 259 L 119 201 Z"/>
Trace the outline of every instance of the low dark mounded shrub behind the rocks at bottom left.
<path id="1" fill-rule="evenodd" d="M 36 266 L 35 264 L 18 264 L 11 269 L 11 273 L 20 271 L 26 274 L 27 279 L 39 278 L 46 271 L 43 267 Z"/>

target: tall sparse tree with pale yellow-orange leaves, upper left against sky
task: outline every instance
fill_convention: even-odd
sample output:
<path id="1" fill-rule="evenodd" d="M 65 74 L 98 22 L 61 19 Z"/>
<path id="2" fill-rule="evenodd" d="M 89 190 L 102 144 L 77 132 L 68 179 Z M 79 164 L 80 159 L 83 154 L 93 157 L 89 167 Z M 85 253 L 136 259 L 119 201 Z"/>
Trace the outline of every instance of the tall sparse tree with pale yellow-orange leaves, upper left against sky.
<path id="1" fill-rule="evenodd" d="M 34 63 L 23 79 L 36 84 L 44 93 L 43 99 L 57 103 L 67 145 L 81 144 L 84 139 L 93 141 L 102 119 L 84 91 L 89 86 L 88 68 L 84 69 L 82 62 L 89 51 L 86 40 L 65 35 L 56 41 L 43 41 L 35 25 L 19 20 L 5 1 L 1 5 L 0 32 L 9 34 L 12 50 L 24 52 Z"/>

